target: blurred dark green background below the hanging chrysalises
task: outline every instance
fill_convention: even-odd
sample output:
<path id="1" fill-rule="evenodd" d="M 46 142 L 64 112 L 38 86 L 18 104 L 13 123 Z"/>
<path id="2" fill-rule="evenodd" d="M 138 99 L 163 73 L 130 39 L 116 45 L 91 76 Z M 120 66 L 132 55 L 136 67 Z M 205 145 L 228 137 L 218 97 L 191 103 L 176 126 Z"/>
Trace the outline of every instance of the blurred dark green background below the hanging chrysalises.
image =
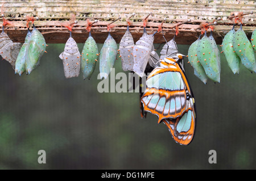
<path id="1" fill-rule="evenodd" d="M 178 48 L 187 54 L 189 45 Z M 90 80 L 66 79 L 63 49 L 49 44 L 40 66 L 21 77 L 0 61 L 0 169 L 256 169 L 255 73 L 241 65 L 234 75 L 221 54 L 221 83 L 204 85 L 186 63 L 197 122 L 193 141 L 181 146 L 155 115 L 141 119 L 138 93 L 100 94 L 98 63 Z M 120 59 L 114 68 L 123 71 Z"/>

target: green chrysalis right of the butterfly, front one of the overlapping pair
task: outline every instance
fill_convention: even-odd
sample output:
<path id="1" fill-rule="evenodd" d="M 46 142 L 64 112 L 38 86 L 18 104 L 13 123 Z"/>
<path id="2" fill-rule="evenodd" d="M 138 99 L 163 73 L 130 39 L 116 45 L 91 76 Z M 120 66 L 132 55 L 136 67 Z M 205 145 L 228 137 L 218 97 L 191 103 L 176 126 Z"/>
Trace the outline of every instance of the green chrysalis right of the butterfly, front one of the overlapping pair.
<path id="1" fill-rule="evenodd" d="M 204 37 L 199 40 L 197 56 L 207 76 L 212 79 L 212 81 L 220 82 L 220 65 L 217 60 L 218 54 L 212 47 L 212 42 L 206 34 L 205 31 Z"/>

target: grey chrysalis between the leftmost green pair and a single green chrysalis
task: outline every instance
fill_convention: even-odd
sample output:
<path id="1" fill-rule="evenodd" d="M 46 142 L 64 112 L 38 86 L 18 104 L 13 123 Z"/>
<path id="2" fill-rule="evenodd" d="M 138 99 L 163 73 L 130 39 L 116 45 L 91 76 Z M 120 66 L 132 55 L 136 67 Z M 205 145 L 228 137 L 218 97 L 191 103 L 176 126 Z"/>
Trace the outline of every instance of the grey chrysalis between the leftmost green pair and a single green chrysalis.
<path id="1" fill-rule="evenodd" d="M 71 36 L 71 32 L 65 44 L 64 52 L 62 52 L 59 57 L 63 60 L 65 78 L 78 77 L 80 73 L 81 56 L 76 41 Z"/>

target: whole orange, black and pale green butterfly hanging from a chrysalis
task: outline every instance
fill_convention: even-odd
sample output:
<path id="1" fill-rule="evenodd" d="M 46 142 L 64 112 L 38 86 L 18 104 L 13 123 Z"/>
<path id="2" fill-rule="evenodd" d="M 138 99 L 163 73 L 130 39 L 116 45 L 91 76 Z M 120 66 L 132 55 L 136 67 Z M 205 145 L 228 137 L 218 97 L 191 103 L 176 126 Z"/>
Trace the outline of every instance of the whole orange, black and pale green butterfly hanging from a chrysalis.
<path id="1" fill-rule="evenodd" d="M 195 132 L 195 98 L 183 68 L 184 55 L 160 60 L 146 81 L 141 102 L 145 111 L 158 116 L 167 125 L 174 140 L 188 145 Z"/>

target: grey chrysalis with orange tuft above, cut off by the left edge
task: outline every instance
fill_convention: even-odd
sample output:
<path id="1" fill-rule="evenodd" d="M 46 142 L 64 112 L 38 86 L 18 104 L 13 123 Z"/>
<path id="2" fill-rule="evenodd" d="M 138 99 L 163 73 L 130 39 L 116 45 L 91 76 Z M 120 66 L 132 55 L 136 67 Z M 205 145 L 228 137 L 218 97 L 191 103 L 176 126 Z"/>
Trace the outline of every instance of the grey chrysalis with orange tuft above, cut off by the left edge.
<path id="1" fill-rule="evenodd" d="M 12 25 L 8 20 L 3 17 L 3 6 L 2 6 L 2 18 L 3 18 L 3 29 L 7 25 Z M 5 33 L 2 29 L 2 33 L 0 34 L 0 52 L 3 59 L 13 66 L 15 69 L 15 61 L 19 54 L 19 49 L 21 47 L 20 43 L 13 43 L 7 33 Z"/>

